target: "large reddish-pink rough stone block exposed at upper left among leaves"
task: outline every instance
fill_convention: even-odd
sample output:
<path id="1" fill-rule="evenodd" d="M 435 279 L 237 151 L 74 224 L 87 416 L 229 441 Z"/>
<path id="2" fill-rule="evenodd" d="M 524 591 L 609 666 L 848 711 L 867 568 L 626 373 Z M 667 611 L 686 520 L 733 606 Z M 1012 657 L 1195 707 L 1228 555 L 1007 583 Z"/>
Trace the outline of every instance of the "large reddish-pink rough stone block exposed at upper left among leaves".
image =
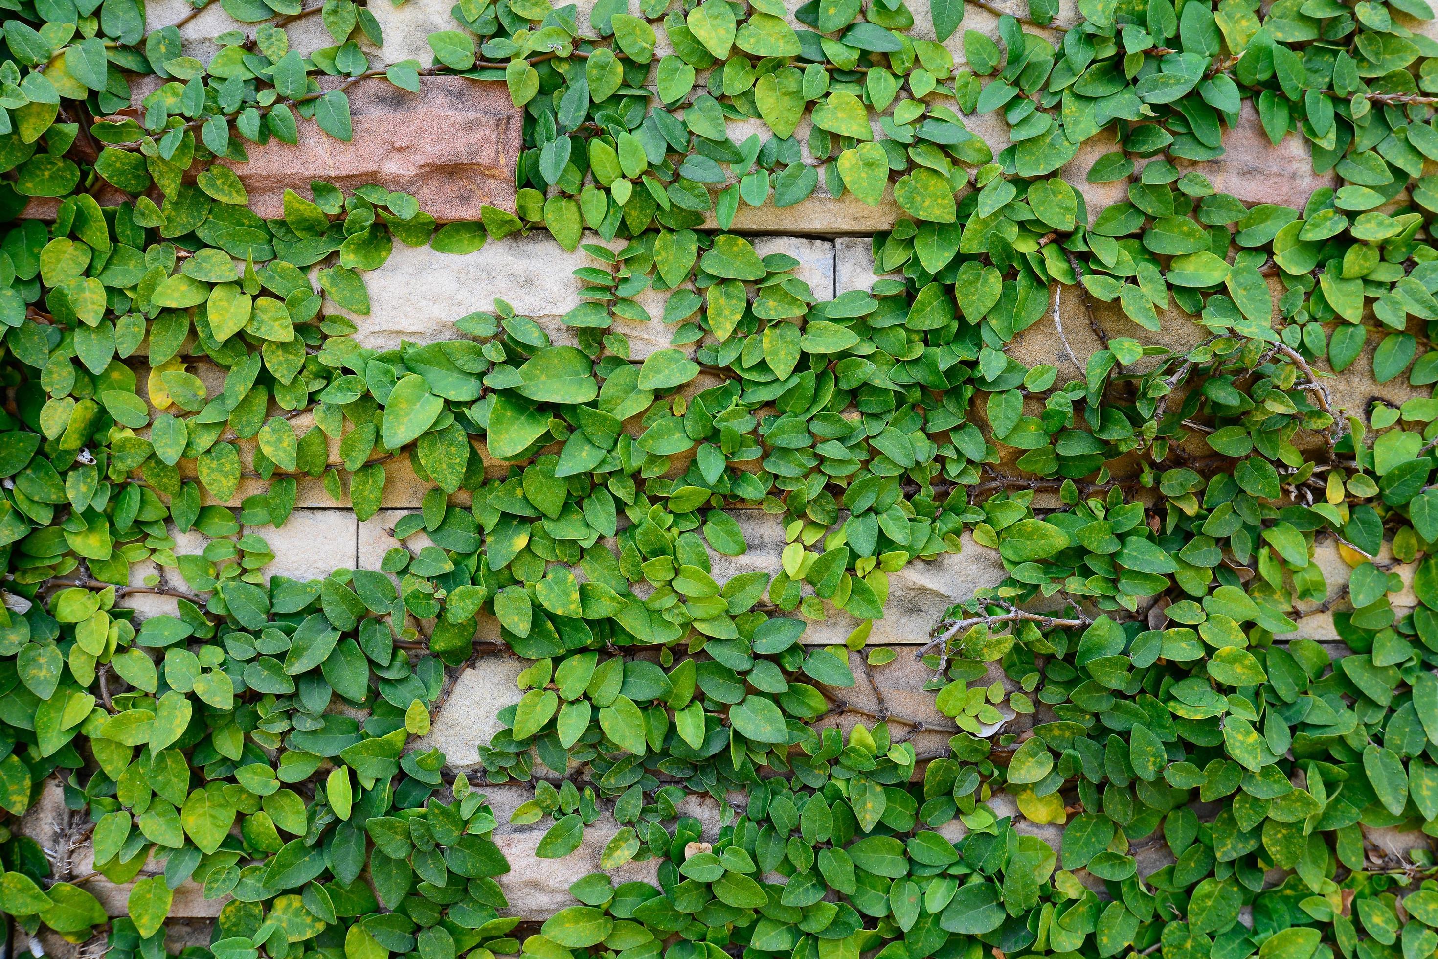
<path id="1" fill-rule="evenodd" d="M 375 183 L 410 193 L 436 220 L 477 220 L 480 204 L 513 210 L 523 114 L 503 83 L 429 76 L 411 93 L 372 78 L 348 95 L 351 142 L 301 121 L 298 144 L 272 139 L 250 145 L 249 162 L 227 161 L 255 213 L 283 216 L 285 188 L 318 178 L 342 190 Z"/>

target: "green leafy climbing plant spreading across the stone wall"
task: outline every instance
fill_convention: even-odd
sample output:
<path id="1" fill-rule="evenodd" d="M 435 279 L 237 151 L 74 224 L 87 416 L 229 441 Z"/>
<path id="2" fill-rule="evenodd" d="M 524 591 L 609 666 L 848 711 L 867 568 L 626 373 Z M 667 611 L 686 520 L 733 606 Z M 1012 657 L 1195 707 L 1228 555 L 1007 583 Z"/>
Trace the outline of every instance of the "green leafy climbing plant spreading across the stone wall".
<path id="1" fill-rule="evenodd" d="M 209 63 L 193 13 L 4 6 L 0 912 L 22 945 L 160 959 L 194 880 L 226 899 L 196 959 L 1438 953 L 1431 847 L 1363 832 L 1438 828 L 1438 400 L 1330 391 L 1438 382 L 1424 0 L 1081 0 L 1073 22 L 972 0 L 997 32 L 959 0 L 462 0 L 430 65 L 381 66 L 351 0 L 220 0 L 259 26 Z M 335 45 L 290 49 L 316 13 Z M 515 211 L 440 226 L 325 183 L 279 219 L 246 207 L 247 144 L 348 141 L 354 83 L 440 73 L 523 109 Z M 1342 185 L 1303 210 L 1217 191 L 1192 161 L 1245 112 Z M 1078 173 L 1132 181 L 1103 210 L 1068 183 L 1096 137 Z M 820 184 L 902 214 L 869 292 L 820 300 L 726 233 Z M 354 339 L 395 240 L 538 229 L 590 257 L 577 345 L 503 300 L 443 342 Z M 672 342 L 633 355 L 615 321 Z M 1054 362 L 1028 365 L 1007 347 L 1040 322 Z M 1195 344 L 1155 345 L 1165 324 Z M 395 460 L 430 492 L 381 569 L 265 574 L 253 531 L 302 482 L 368 519 Z M 733 506 L 787 545 L 719 582 L 749 548 Z M 890 577 L 978 548 L 1007 578 L 919 650 L 952 726 L 899 715 L 894 650 L 867 644 Z M 144 594 L 174 612 L 137 615 Z M 1346 648 L 1301 638 L 1313 614 Z M 804 644 L 840 615 L 844 644 Z M 522 697 L 453 776 L 408 746 L 500 650 L 529 660 Z M 19 817 L 56 779 L 79 825 L 45 845 Z M 659 884 L 597 873 L 542 924 L 502 916 L 502 782 L 533 784 L 510 821 L 545 824 L 536 855 L 607 815 L 601 866 L 657 860 Z M 131 883 L 127 916 L 98 877 Z"/>

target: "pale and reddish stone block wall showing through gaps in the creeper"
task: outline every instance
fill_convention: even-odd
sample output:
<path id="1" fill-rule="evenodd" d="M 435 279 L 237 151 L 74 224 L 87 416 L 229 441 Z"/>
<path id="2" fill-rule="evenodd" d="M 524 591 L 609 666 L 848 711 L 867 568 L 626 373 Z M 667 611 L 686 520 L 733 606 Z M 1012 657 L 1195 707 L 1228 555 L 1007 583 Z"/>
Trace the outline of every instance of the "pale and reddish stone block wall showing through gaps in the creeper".
<path id="1" fill-rule="evenodd" d="M 371 4 L 368 10 L 380 22 L 385 36 L 383 46 L 367 47 L 372 63 L 387 65 L 416 59 L 421 66 L 429 66 L 433 56 L 426 37 L 434 30 L 452 26 L 450 6 L 452 0 L 408 0 L 400 6 Z M 794 9 L 798 3 L 788 0 L 788 6 Z M 1018 14 L 1024 13 L 1022 4 L 1014 0 L 999 6 L 1012 7 Z M 926 4 L 916 7 L 920 20 L 926 19 Z M 580 4 L 581 23 L 587 23 L 591 9 L 592 0 Z M 1058 22 L 1070 23 L 1076 19 L 1074 4 L 1064 0 Z M 147 4 L 147 20 L 150 29 L 184 20 L 180 27 L 184 52 L 203 60 L 219 49 L 213 37 L 232 29 L 253 35 L 257 26 L 236 23 L 217 3 L 194 13 L 183 0 L 158 0 Z M 995 22 L 992 13 L 971 7 L 963 27 L 994 35 Z M 923 36 L 925 26 L 919 24 L 920 29 L 915 32 L 916 39 Z M 306 13 L 288 23 L 288 30 L 295 47 L 302 53 L 329 46 L 332 42 L 319 16 L 315 14 Z M 962 35 L 961 30 L 945 43 L 961 65 Z M 932 37 L 932 32 L 928 36 Z M 664 52 L 659 50 L 660 55 Z M 372 86 L 361 85 L 351 89 L 357 118 L 352 147 L 311 135 L 302 137 L 302 145 L 298 148 L 283 148 L 276 144 L 266 150 L 252 150 L 253 162 L 247 167 L 239 165 L 237 170 L 246 180 L 257 211 L 276 216 L 278 197 L 283 187 L 303 184 L 315 175 L 338 178 L 349 185 L 372 180 L 393 190 L 406 190 L 420 197 L 423 207 L 440 220 L 477 219 L 482 203 L 512 208 L 513 157 L 518 152 L 521 116 L 518 111 L 506 106 L 508 95 L 502 85 L 460 78 L 426 78 L 420 95 L 398 95 L 393 88 L 384 89 L 384 81 L 371 83 Z M 365 118 L 370 118 L 368 132 L 361 135 L 360 128 L 367 122 Z M 1008 142 L 1008 131 L 1002 119 L 994 114 L 971 118 L 969 127 L 995 152 Z M 735 142 L 752 134 L 761 138 L 768 135 L 758 122 L 735 121 L 729 132 Z M 807 152 L 807 127 L 795 135 L 804 144 L 805 161 L 818 162 Z M 1228 154 L 1221 160 L 1202 164 L 1182 161 L 1181 167 L 1204 173 L 1215 188 L 1232 193 L 1247 203 L 1284 203 L 1301 208 L 1313 190 L 1334 185 L 1330 177 L 1309 173 L 1306 148 L 1299 138 L 1290 137 L 1283 147 L 1274 148 L 1247 104 L 1240 127 L 1225 138 L 1225 145 Z M 1096 138 L 1060 171 L 1083 194 L 1090 217 L 1126 197 L 1129 181 L 1091 184 L 1086 180 L 1093 161 L 1109 150 L 1113 150 L 1112 139 Z M 871 234 L 889 229 L 896 216 L 892 193 L 886 193 L 877 207 L 869 207 L 851 194 L 827 196 L 821 187 L 815 196 L 788 208 L 742 206 L 733 229 L 752 234 L 761 256 L 785 253 L 795 257 L 800 263 L 795 275 L 810 285 L 818 299 L 827 300 L 848 290 L 869 289 L 874 283 L 877 277 Z M 592 234 L 587 236 L 585 242 L 601 243 Z M 623 243 L 614 242 L 605 246 L 618 249 Z M 518 313 L 535 318 L 554 342 L 572 344 L 575 331 L 561 321 L 581 302 L 582 283 L 572 276 L 572 272 L 595 263 L 582 250 L 564 250 L 542 231 L 490 242 L 464 256 L 397 244 L 390 262 L 365 277 L 371 312 L 362 316 L 349 315 L 358 326 L 355 339 L 367 348 L 390 349 L 404 341 L 423 344 L 452 338 L 456 335 L 453 326 L 456 319 L 475 311 L 493 309 L 495 299 L 502 298 Z M 673 329 L 659 319 L 663 315 L 664 293 L 647 290 L 637 299 L 651 319 L 646 322 L 617 319 L 614 332 L 624 334 L 633 358 L 641 359 L 670 347 Z M 344 312 L 332 303 L 326 303 L 326 311 Z M 1058 335 L 1060 322 L 1063 338 Z M 1189 318 L 1176 311 L 1163 316 L 1160 334 L 1148 334 L 1129 322 L 1117 306 L 1100 303 L 1090 318 L 1089 305 L 1078 290 L 1066 288 L 1055 313 L 1047 315 L 1020 334 L 1009 345 L 1009 352 L 1030 365 L 1040 362 L 1057 365 L 1063 380 L 1080 377 L 1083 370 L 1077 364 L 1086 362 L 1089 355 L 1102 348 L 1096 328 L 1104 335 L 1136 336 L 1175 349 L 1192 347 L 1204 335 Z M 1061 345 L 1064 341 L 1067 348 Z M 1370 345 L 1369 349 L 1372 348 Z M 686 349 L 692 352 L 693 345 Z M 1068 349 L 1073 351 L 1077 364 L 1070 358 Z M 1362 358 L 1359 367 L 1369 362 L 1370 357 Z M 211 387 L 211 391 L 223 381 L 223 371 L 197 358 L 191 358 L 190 368 Z M 1356 384 L 1347 387 L 1342 382 L 1334 384 L 1333 390 L 1337 404 L 1355 414 L 1363 413 L 1373 395 L 1401 403 L 1409 395 L 1426 394 L 1402 385 L 1402 381 L 1379 388 L 1365 378 L 1357 378 Z M 296 417 L 293 423 L 301 433 L 312 424 L 308 416 Z M 240 449 L 242 459 L 247 464 L 253 456 L 253 443 L 240 441 Z M 483 454 L 483 450 L 480 453 Z M 676 457 L 676 462 L 679 459 Z M 331 441 L 331 460 L 339 462 L 336 440 Z M 676 463 L 676 470 L 682 470 L 683 466 Z M 486 467 L 492 476 L 500 476 L 508 469 L 505 463 L 490 460 L 487 456 Z M 427 485 L 414 476 L 407 457 L 387 463 L 385 470 L 384 508 L 362 522 L 349 510 L 348 502 L 334 502 L 318 479 L 302 479 L 298 508 L 285 526 L 244 531 L 269 542 L 275 561 L 266 566 L 266 572 L 308 579 L 325 577 L 339 568 L 380 568 L 385 551 L 397 543 L 393 536 L 395 520 L 418 509 L 427 490 Z M 262 492 L 263 487 L 262 482 L 246 479 L 226 505 L 237 506 L 244 496 Z M 467 496 L 459 493 L 452 502 L 464 506 Z M 735 510 L 735 518 L 745 532 L 749 551 L 736 558 L 715 556 L 715 577 L 723 581 L 745 571 L 778 571 L 784 538 L 777 518 L 762 510 Z M 197 533 L 177 535 L 175 539 L 177 552 L 198 552 L 204 542 Z M 420 532 L 410 536 L 407 545 L 418 549 L 426 542 L 424 533 Z M 1336 584 L 1346 581 L 1346 575 L 1339 575 L 1345 569 L 1343 558 L 1329 542 L 1320 546 L 1317 559 L 1329 572 L 1332 595 L 1337 598 Z M 132 574 L 134 585 L 139 585 L 145 577 L 158 575 L 167 585 L 186 588 L 175 571 L 154 564 L 138 564 Z M 963 538 L 961 554 L 943 555 L 933 562 L 915 562 L 894 574 L 886 615 L 874 623 L 869 644 L 893 647 L 897 657 L 887 666 L 870 669 L 861 653 L 850 654 L 850 666 L 858 679 L 857 687 L 830 689 L 827 694 L 835 703 L 848 703 L 857 709 L 825 722 L 848 726 L 857 720 L 871 723 L 876 716 L 893 715 L 893 722 L 920 730 L 915 736 L 920 753 L 940 751 L 953 728 L 946 717 L 935 712 L 933 694 L 923 689 L 932 676 L 916 660 L 915 653 L 929 638 L 930 628 L 951 604 L 969 598 L 979 587 L 997 584 L 1002 577 L 1004 569 L 997 552 L 979 546 L 969 536 Z M 1411 595 L 1395 598 L 1395 607 L 1403 602 L 1412 604 L 1414 600 Z M 173 600 L 151 594 L 131 594 L 122 604 L 137 608 L 141 617 L 174 610 Z M 1317 604 L 1310 604 L 1311 607 Z M 856 621 L 846 614 L 831 615 L 825 621 L 812 623 L 804 641 L 818 646 L 841 644 L 854 625 Z M 1296 635 L 1317 638 L 1332 644 L 1334 654 L 1340 653 L 1332 615 L 1327 612 L 1303 618 Z M 477 638 L 498 638 L 498 624 L 482 617 Z M 446 700 L 433 717 L 431 732 L 411 748 L 437 746 L 446 753 L 454 772 L 475 772 L 479 766 L 477 748 L 500 729 L 496 713 L 519 699 L 516 676 L 522 669 L 521 660 L 495 654 L 450 670 L 446 679 Z M 999 679 L 997 671 L 992 679 Z M 1025 728 L 1025 719 L 1005 712 L 1007 722 L 1002 730 L 1021 730 Z M 502 880 L 502 886 L 515 904 L 515 914 L 542 919 L 568 904 L 568 884 L 598 868 L 600 851 L 617 827 L 608 820 L 601 820 L 585 831 L 582 847 L 571 857 L 539 860 L 533 851 L 544 825 L 509 824 L 509 815 L 532 797 L 532 791 L 519 785 L 483 791 L 489 795 L 500 822 L 496 841 L 505 850 L 513 870 Z M 1018 815 L 1007 797 L 998 797 L 992 805 L 999 814 Z M 683 812 L 696 815 L 705 822 L 706 838 L 718 831 L 719 805 L 713 799 L 690 798 Z M 53 782 L 22 825 L 24 832 L 36 837 L 47 850 L 63 850 L 62 868 L 68 877 L 85 876 L 92 866 L 82 827 L 83 824 L 75 821 L 65 809 L 59 785 Z M 958 838 L 961 828 L 955 821 L 943 831 L 949 838 Z M 1055 827 L 1024 822 L 1020 828 L 1057 847 Z M 1160 860 L 1150 855 L 1142 871 L 1150 871 L 1160 864 Z M 627 864 L 617 871 L 615 878 L 653 880 L 654 864 Z M 109 886 L 104 880 L 91 880 L 88 889 L 99 896 L 112 914 L 124 914 L 125 889 Z M 173 909 L 177 922 L 170 930 L 171 947 L 187 942 L 207 942 L 206 920 L 217 913 L 219 906 L 217 901 L 204 900 L 193 884 L 181 887 Z M 62 952 L 65 943 L 47 945 L 52 953 L 65 955 Z"/>

